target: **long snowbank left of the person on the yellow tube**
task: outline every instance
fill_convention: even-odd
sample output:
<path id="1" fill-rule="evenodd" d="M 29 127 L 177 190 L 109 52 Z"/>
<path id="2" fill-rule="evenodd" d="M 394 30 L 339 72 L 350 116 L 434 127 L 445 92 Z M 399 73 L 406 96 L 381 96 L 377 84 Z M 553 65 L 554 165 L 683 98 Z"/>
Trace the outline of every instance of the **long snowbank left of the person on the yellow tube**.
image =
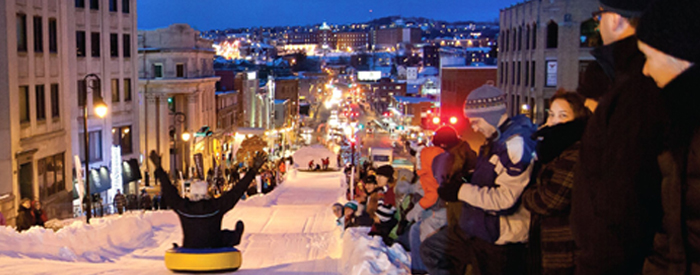
<path id="1" fill-rule="evenodd" d="M 17 232 L 0 227 L 0 255 L 68 262 L 111 262 L 143 247 L 157 247 L 158 231 L 179 230 L 172 211 L 128 212 L 123 216 L 73 221 L 54 232 L 32 227 Z M 128 232 L 125 234 L 125 232 Z"/>

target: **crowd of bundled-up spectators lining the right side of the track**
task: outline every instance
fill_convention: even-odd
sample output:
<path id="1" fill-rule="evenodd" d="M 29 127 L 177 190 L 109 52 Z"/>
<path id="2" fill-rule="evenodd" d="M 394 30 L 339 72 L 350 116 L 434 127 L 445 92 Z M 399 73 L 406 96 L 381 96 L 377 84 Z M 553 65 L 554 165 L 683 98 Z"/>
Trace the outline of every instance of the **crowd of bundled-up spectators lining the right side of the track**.
<path id="1" fill-rule="evenodd" d="M 696 0 L 601 0 L 596 62 L 545 123 L 479 87 L 464 103 L 478 152 L 443 126 L 404 183 L 361 167 L 338 224 L 398 242 L 413 274 L 700 274 L 698 14 Z"/>

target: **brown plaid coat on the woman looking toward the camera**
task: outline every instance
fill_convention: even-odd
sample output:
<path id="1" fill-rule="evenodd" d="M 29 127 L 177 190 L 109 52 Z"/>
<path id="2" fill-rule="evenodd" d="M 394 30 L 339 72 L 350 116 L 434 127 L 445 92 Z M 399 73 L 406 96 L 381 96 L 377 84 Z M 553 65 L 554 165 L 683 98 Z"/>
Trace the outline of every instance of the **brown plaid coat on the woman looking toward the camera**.
<path id="1" fill-rule="evenodd" d="M 574 166 L 586 119 L 537 131 L 537 161 L 522 196 L 530 210 L 530 274 L 573 274 L 574 236 L 569 225 Z"/>

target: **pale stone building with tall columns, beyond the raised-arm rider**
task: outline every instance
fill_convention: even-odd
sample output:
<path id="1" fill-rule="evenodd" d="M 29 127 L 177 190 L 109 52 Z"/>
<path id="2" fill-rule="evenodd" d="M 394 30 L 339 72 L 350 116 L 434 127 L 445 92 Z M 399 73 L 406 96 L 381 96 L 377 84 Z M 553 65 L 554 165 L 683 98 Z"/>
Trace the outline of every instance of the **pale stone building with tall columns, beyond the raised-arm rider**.
<path id="1" fill-rule="evenodd" d="M 201 38 L 187 24 L 157 30 L 140 30 L 139 55 L 139 143 L 145 152 L 162 155 L 162 165 L 171 173 L 187 171 L 198 144 L 209 140 L 182 134 L 204 126 L 216 130 L 215 50 L 212 41 Z M 204 150 L 205 157 L 206 152 Z M 146 167 L 152 171 L 152 167 Z"/>

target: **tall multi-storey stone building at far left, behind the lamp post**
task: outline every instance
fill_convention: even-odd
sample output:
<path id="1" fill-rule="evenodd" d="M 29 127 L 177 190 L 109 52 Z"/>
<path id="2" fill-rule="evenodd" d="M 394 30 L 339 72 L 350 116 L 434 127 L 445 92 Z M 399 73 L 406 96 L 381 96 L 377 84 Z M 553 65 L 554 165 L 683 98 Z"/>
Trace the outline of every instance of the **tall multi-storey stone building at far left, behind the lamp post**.
<path id="1" fill-rule="evenodd" d="M 132 142 L 138 135 L 132 127 L 136 1 L 3 1 L 0 12 L 7 19 L 0 22 L 0 86 L 8 91 L 0 95 L 7 118 L 0 121 L 6 144 L 0 151 L 0 211 L 14 224 L 20 200 L 28 198 L 41 201 L 49 219 L 77 215 L 71 171 L 83 164 L 73 156 L 85 161 L 82 110 L 92 106 L 93 96 L 101 96 L 109 112 L 99 118 L 88 108 L 90 168 L 115 171 L 122 165 L 115 160 L 139 151 Z M 97 78 L 86 83 L 90 74 Z M 97 186 L 103 188 L 93 186 L 91 193 L 104 197 L 111 197 L 112 186 L 123 188 L 109 176 Z"/>

